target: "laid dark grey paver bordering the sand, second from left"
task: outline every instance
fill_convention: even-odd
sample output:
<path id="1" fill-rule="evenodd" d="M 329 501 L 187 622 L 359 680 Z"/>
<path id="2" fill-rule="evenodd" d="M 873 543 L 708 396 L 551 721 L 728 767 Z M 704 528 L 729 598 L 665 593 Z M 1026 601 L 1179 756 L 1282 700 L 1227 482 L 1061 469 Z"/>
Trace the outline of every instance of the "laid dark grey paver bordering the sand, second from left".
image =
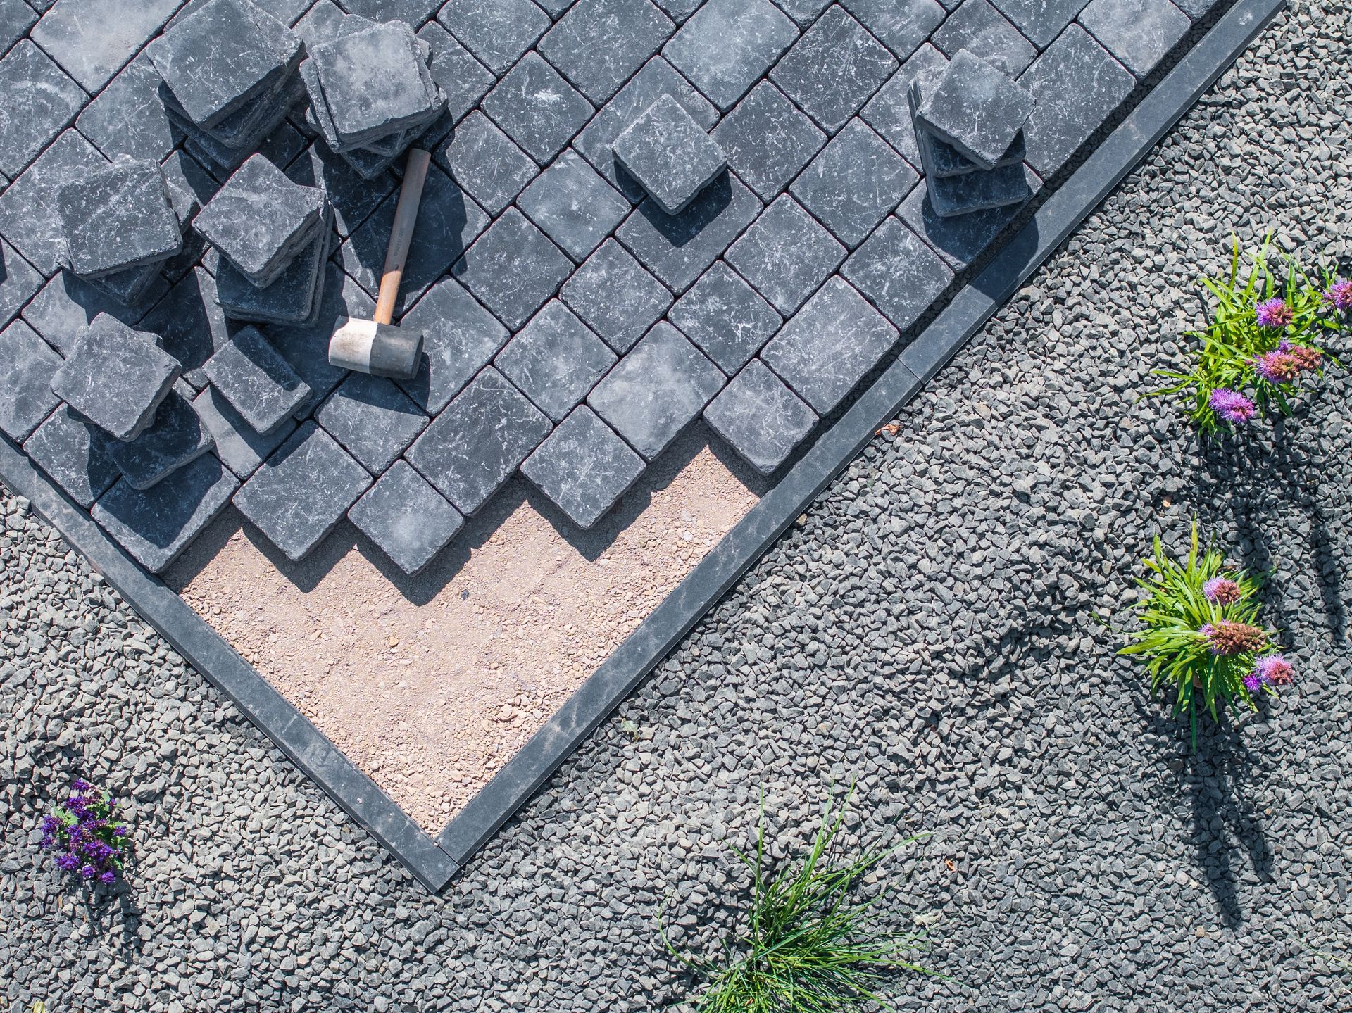
<path id="1" fill-rule="evenodd" d="M 235 506 L 292 563 L 338 526 L 370 475 L 314 422 L 304 422 L 234 495 Z"/>

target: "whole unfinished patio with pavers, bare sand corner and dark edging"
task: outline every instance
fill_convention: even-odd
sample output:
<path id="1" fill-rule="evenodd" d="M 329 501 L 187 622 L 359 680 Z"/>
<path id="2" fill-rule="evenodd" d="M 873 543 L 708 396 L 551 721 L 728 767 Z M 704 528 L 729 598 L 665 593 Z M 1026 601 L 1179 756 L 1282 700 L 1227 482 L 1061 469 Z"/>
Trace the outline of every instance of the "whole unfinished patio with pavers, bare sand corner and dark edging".
<path id="1" fill-rule="evenodd" d="M 0 471 L 438 889 L 1280 4 L 346 5 L 5 26 Z"/>

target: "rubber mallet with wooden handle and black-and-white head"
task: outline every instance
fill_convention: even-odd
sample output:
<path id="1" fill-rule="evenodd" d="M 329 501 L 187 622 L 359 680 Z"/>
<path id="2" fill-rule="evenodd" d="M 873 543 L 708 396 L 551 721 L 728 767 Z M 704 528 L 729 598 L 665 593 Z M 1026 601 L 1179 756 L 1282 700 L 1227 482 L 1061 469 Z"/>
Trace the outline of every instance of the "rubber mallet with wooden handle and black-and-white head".
<path id="1" fill-rule="evenodd" d="M 404 280 L 404 265 L 408 261 L 408 246 L 414 241 L 414 225 L 418 222 L 418 204 L 422 202 L 430 160 L 431 156 L 423 150 L 416 147 L 408 150 L 404 185 L 399 191 L 395 227 L 389 234 L 385 269 L 380 276 L 376 318 L 347 319 L 334 331 L 329 341 L 330 365 L 372 376 L 388 376 L 392 380 L 412 380 L 418 375 L 422 364 L 422 331 L 395 327 L 389 322 L 395 316 L 399 284 Z"/>

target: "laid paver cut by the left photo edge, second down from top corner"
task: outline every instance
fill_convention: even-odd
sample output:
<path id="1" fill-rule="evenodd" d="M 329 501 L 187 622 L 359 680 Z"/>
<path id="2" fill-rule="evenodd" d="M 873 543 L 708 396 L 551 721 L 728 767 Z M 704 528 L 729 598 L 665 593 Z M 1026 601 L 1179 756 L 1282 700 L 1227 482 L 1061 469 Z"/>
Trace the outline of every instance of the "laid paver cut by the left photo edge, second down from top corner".
<path id="1" fill-rule="evenodd" d="M 28 39 L 0 60 L 0 172 L 11 179 L 74 119 L 85 101 L 80 85 Z"/>

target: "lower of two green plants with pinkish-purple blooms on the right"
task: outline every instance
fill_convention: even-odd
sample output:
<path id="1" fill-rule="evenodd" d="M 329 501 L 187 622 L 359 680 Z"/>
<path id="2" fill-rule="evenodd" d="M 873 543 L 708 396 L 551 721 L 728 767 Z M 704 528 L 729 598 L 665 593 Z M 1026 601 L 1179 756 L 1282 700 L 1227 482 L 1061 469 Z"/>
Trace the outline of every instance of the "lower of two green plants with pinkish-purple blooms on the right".
<path id="1" fill-rule="evenodd" d="M 1257 580 L 1226 567 L 1214 546 L 1202 552 L 1195 523 L 1186 560 L 1168 556 L 1156 536 L 1145 568 L 1141 629 L 1119 653 L 1144 661 L 1152 690 L 1174 687 L 1174 713 L 1188 715 L 1194 743 L 1202 713 L 1215 721 L 1222 703 L 1257 710 L 1257 694 L 1293 682 L 1291 664 L 1267 653 L 1276 633 L 1257 625 Z"/>

